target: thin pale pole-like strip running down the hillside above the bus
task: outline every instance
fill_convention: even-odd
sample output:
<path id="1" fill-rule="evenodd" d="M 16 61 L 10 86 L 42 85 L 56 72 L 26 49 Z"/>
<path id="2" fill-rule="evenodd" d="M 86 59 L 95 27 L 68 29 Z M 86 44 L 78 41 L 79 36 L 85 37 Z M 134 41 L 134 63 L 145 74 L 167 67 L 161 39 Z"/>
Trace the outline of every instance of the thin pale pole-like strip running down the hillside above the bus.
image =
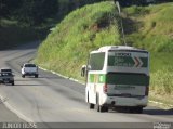
<path id="1" fill-rule="evenodd" d="M 123 43 L 127 46 L 127 41 L 125 41 L 125 35 L 124 35 L 124 29 L 123 29 L 123 25 L 122 25 L 122 18 L 121 18 L 121 8 L 120 8 L 120 4 L 118 1 L 115 1 L 116 2 L 116 5 L 118 8 L 118 13 L 120 15 L 120 24 L 121 24 L 121 33 L 122 33 L 122 40 L 123 40 Z"/>

